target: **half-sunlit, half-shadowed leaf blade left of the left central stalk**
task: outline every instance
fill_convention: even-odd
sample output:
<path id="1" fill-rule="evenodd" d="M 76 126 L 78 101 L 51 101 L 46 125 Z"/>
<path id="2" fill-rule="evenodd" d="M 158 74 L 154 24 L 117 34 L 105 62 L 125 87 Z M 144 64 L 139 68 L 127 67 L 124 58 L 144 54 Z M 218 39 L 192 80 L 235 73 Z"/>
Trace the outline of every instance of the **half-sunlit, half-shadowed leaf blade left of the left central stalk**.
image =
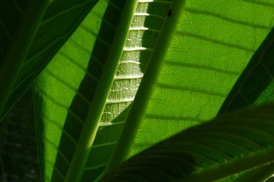
<path id="1" fill-rule="evenodd" d="M 103 34 L 116 29 L 117 22 L 114 24 L 115 22 L 103 18 L 107 6 L 106 1 L 97 3 L 36 82 L 37 132 L 40 161 L 44 165 L 41 170 L 46 181 L 64 181 L 66 178 L 88 105 L 94 97 L 105 56 L 109 51 L 108 45 L 113 41 L 113 34 L 110 34 L 111 39 L 102 40 L 103 37 L 99 37 L 100 26 L 105 26 L 103 30 L 106 32 Z M 119 14 L 115 16 L 119 18 Z M 94 44 L 98 44 L 99 49 L 93 50 L 90 57 Z M 90 59 L 92 61 L 88 66 Z M 85 84 L 82 86 L 84 88 L 77 91 L 81 82 Z M 74 108 L 70 108 L 71 102 L 76 102 Z"/>

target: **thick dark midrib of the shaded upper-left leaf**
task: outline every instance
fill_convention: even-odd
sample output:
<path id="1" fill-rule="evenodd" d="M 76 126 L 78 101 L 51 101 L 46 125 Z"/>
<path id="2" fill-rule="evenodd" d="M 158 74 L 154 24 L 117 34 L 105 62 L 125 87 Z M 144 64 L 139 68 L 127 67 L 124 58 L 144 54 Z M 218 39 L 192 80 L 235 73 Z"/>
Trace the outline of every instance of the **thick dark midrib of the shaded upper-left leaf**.
<path id="1" fill-rule="evenodd" d="M 30 0 L 14 33 L 8 52 L 0 65 L 0 114 L 12 93 L 16 78 L 48 5 L 49 0 Z"/>

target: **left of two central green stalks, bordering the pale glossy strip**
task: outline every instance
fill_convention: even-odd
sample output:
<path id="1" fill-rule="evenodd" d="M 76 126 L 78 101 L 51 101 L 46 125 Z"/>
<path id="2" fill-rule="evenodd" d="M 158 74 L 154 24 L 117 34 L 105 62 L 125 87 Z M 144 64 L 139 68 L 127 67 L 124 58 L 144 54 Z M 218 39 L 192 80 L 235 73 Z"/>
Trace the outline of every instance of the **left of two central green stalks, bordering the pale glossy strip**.
<path id="1" fill-rule="evenodd" d="M 116 35 L 99 81 L 101 84 L 98 85 L 94 100 L 88 110 L 88 116 L 84 123 L 82 134 L 79 138 L 79 142 L 77 142 L 77 147 L 66 175 L 66 182 L 77 182 L 81 180 L 88 155 L 90 154 L 90 149 L 92 148 L 92 143 L 97 134 L 99 121 L 103 115 L 108 94 L 112 87 L 112 82 L 114 81 L 114 75 L 119 64 L 121 53 L 123 52 L 123 46 L 127 38 L 127 32 L 132 22 L 132 18 L 134 17 L 137 2 L 137 0 L 126 1 L 123 8 L 121 14 L 122 18 L 116 29 Z"/>

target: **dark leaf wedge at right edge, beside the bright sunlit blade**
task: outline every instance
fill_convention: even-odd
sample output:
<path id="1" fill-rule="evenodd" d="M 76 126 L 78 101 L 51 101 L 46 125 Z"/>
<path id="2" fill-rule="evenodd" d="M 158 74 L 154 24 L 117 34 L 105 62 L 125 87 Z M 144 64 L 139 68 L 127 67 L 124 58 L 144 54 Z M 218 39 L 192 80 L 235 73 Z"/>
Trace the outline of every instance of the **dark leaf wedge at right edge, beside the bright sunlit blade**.
<path id="1" fill-rule="evenodd" d="M 251 61 L 226 97 L 219 115 L 274 98 L 274 28 L 255 52 Z"/>

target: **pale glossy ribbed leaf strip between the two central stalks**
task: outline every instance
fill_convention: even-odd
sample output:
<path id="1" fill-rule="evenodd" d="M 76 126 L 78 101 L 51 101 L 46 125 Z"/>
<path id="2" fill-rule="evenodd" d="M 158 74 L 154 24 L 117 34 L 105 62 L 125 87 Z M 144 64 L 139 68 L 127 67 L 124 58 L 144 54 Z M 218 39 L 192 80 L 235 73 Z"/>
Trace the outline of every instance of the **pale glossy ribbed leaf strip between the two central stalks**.
<path id="1" fill-rule="evenodd" d="M 94 155 L 90 154 L 90 164 L 93 163 L 93 165 L 96 164 L 96 156 L 102 149 L 108 151 L 104 156 L 105 162 L 98 164 L 95 168 L 90 168 L 91 170 L 100 168 L 102 171 L 108 164 L 112 149 L 114 149 L 142 80 L 147 61 L 150 60 L 164 20 L 167 18 L 166 13 L 170 5 L 171 1 L 138 2 L 97 138 L 95 138 L 95 145 L 102 140 L 102 136 L 110 135 L 110 131 L 116 131 L 116 135 L 110 136 L 105 144 L 100 145 L 101 149 L 95 146 L 91 151 L 91 153 L 94 152 Z"/>

